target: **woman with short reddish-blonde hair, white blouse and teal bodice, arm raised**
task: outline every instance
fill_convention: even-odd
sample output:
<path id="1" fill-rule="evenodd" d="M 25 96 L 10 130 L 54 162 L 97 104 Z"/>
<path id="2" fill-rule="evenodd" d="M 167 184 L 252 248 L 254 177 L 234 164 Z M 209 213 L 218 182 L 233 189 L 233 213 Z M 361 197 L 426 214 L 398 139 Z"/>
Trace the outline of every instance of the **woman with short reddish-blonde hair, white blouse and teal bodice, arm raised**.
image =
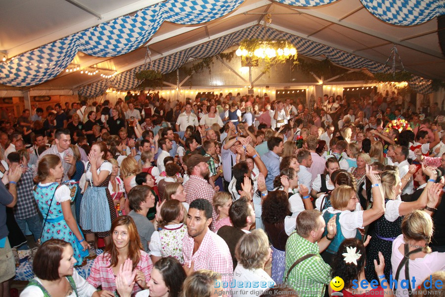
<path id="1" fill-rule="evenodd" d="M 337 234 L 321 254 L 327 264 L 331 263 L 333 255 L 337 253 L 340 244 L 345 239 L 361 239 L 359 229 L 374 222 L 385 212 L 382 187 L 376 173 L 370 166 L 366 166 L 366 176 L 373 184 L 371 191 L 374 198 L 372 207 L 369 209 L 360 210 L 356 190 L 350 186 L 342 185 L 332 191 L 330 197 L 332 206 L 323 212 L 323 219 L 327 224 L 332 217 L 336 216 Z M 325 229 L 323 236 L 326 235 L 327 230 Z"/>

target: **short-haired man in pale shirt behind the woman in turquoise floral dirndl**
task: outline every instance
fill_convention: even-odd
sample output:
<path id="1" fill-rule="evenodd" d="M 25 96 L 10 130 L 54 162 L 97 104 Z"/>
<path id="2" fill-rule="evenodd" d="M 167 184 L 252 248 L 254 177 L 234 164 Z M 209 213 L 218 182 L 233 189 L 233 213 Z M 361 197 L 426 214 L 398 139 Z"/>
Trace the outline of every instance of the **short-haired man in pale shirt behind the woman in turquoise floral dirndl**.
<path id="1" fill-rule="evenodd" d="M 57 129 L 54 133 L 55 146 L 46 149 L 40 154 L 37 164 L 43 156 L 47 154 L 55 154 L 60 157 L 63 167 L 63 177 L 62 182 L 69 180 L 69 177 L 73 176 L 76 172 L 76 159 L 74 158 L 74 152 L 70 148 L 71 136 L 70 130 L 68 129 Z"/>

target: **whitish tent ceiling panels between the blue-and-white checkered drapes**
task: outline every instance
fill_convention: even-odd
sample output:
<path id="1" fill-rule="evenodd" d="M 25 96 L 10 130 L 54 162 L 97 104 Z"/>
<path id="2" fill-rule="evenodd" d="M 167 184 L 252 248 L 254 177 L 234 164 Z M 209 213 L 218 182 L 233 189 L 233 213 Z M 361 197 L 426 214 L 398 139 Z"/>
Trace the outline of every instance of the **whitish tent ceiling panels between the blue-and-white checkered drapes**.
<path id="1" fill-rule="evenodd" d="M 0 0 L 0 55 L 4 53 L 11 58 L 158 2 L 161 1 Z M 407 71 L 428 79 L 445 80 L 445 58 L 439 45 L 437 18 L 416 26 L 391 25 L 372 15 L 359 0 L 338 0 L 315 7 L 296 7 L 272 0 L 245 0 L 229 14 L 204 24 L 164 22 L 147 44 L 152 59 L 157 59 L 257 25 L 266 13 L 272 14 L 270 26 L 276 30 L 380 63 L 386 62 L 392 47 L 397 44 Z M 123 72 L 143 64 L 145 53 L 144 47 L 110 58 L 79 52 L 72 65 L 79 65 L 81 69 L 92 66 Z M 31 89 L 76 90 L 100 79 L 98 74 L 62 72 Z M 22 89 L 0 85 L 0 90 Z"/>

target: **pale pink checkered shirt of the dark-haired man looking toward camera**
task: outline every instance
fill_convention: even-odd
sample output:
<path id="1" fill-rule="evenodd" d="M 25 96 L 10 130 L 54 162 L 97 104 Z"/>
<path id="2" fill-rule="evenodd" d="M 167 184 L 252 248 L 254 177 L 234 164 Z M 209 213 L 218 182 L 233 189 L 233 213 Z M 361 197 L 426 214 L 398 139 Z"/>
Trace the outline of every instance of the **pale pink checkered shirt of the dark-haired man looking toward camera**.
<path id="1" fill-rule="evenodd" d="M 195 242 L 188 234 L 182 239 L 182 256 L 187 267 L 194 261 L 193 270 L 212 270 L 221 274 L 223 282 L 230 282 L 233 275 L 233 262 L 225 241 L 209 229 L 198 250 L 193 254 Z"/>

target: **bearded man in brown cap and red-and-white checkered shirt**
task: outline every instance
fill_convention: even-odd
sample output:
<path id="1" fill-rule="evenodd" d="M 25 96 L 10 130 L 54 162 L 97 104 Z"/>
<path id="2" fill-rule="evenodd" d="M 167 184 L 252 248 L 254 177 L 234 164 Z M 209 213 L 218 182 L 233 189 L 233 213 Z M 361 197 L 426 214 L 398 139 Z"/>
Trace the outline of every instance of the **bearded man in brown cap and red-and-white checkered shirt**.
<path id="1" fill-rule="evenodd" d="M 193 154 L 187 161 L 187 171 L 190 175 L 188 181 L 184 184 L 185 193 L 187 194 L 185 202 L 191 203 L 198 198 L 204 198 L 213 203 L 213 196 L 215 196 L 215 189 L 219 190 L 219 187 L 215 189 L 207 182 L 210 175 L 209 164 L 207 162 L 210 157 L 205 157 L 201 154 Z M 218 215 L 212 207 L 212 221 L 210 224 L 210 230 L 214 230 L 214 222 Z"/>

